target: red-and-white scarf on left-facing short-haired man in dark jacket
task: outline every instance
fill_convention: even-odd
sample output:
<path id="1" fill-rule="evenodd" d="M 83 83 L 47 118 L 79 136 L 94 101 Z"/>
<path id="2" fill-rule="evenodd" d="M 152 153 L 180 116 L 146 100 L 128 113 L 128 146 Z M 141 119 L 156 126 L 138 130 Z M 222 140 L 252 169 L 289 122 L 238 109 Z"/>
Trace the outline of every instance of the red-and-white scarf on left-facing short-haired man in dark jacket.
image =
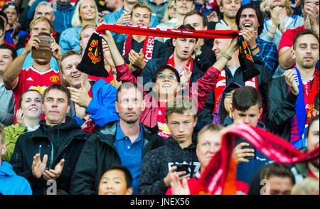
<path id="1" fill-rule="evenodd" d="M 221 97 L 221 93 L 225 89 L 227 85 L 226 78 L 225 78 L 225 70 L 221 70 L 220 75 L 218 77 L 218 82 L 215 85 L 215 109 L 214 112 L 217 112 L 218 102 Z M 251 79 L 247 80 L 245 82 L 245 86 L 251 86 L 254 87 L 256 90 L 258 90 L 257 87 L 257 77 L 252 77 Z"/>

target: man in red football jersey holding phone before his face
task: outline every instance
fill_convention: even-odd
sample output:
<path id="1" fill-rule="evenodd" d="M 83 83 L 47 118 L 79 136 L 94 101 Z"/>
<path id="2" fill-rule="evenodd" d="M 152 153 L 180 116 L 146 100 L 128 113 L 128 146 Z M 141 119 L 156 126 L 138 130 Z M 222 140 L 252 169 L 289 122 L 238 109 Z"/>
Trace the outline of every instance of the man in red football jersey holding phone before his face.
<path id="1" fill-rule="evenodd" d="M 7 90 L 14 92 L 14 99 L 19 101 L 23 92 L 29 89 L 43 91 L 53 83 L 60 83 L 59 72 L 50 68 L 50 60 L 47 59 L 33 59 L 33 63 L 28 68 L 22 68 L 27 56 L 31 53 L 32 48 L 39 48 L 40 40 L 36 38 L 37 34 L 52 37 L 52 23 L 46 17 L 38 17 L 31 23 L 31 38 L 26 45 L 26 48 L 18 55 L 16 59 L 4 71 L 4 86 Z M 51 27 L 50 27 L 50 26 Z M 43 33 L 41 33 L 43 32 Z M 50 33 L 50 34 L 49 34 Z M 61 48 L 58 43 L 50 45 L 53 58 L 60 63 Z M 16 110 L 18 109 L 18 102 L 16 102 Z M 44 115 L 42 116 L 44 119 Z M 16 119 L 15 119 L 16 122 Z"/>

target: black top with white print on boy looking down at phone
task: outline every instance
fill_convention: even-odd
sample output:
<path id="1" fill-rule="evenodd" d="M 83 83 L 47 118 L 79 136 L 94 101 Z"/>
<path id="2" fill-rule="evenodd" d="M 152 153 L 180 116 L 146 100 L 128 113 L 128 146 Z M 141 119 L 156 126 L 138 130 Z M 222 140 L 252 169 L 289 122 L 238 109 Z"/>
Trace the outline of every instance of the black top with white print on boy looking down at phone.
<path id="1" fill-rule="evenodd" d="M 164 195 L 169 187 L 164 178 L 175 164 L 192 165 L 193 173 L 199 171 L 200 163 L 196 156 L 196 142 L 184 149 L 170 136 L 166 145 L 149 151 L 142 160 L 138 195 Z M 189 169 L 191 171 L 191 169 Z M 192 171 L 191 171 L 192 172 Z"/>

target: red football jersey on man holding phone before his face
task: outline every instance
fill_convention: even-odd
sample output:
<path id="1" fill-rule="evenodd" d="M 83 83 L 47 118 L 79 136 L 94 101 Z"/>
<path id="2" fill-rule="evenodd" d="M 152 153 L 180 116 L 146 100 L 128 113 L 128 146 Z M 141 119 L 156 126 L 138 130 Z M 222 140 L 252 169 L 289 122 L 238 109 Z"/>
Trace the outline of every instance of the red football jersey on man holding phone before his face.
<path id="1" fill-rule="evenodd" d="M 17 78 L 16 85 L 12 88 L 14 100 L 16 101 L 16 111 L 18 110 L 18 103 L 23 92 L 32 89 L 38 90 L 38 92 L 43 94 L 46 87 L 53 83 L 60 84 L 60 77 L 59 72 L 52 68 L 45 72 L 40 72 L 33 67 L 22 69 Z M 41 115 L 41 119 L 45 119 L 44 114 Z M 16 117 L 14 117 L 14 123 L 16 123 Z"/>

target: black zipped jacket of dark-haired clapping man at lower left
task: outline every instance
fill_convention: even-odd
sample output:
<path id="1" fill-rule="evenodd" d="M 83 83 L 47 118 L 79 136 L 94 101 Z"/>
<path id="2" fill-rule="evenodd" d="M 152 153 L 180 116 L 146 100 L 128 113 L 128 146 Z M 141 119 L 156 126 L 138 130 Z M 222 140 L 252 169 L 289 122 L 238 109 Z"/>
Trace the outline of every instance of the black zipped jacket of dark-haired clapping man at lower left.
<path id="1" fill-rule="evenodd" d="M 48 126 L 43 120 L 36 131 L 18 137 L 10 164 L 18 176 L 23 176 L 29 181 L 33 194 L 43 195 L 52 185 L 47 186 L 43 176 L 41 178 L 33 176 L 31 170 L 33 156 L 40 154 L 42 161 L 43 156 L 47 154 L 47 170 L 54 169 L 61 159 L 65 159 L 63 171 L 56 182 L 57 189 L 69 193 L 75 164 L 89 136 L 88 132 L 80 129 L 75 119 L 67 117 L 65 123 L 53 127 Z"/>

